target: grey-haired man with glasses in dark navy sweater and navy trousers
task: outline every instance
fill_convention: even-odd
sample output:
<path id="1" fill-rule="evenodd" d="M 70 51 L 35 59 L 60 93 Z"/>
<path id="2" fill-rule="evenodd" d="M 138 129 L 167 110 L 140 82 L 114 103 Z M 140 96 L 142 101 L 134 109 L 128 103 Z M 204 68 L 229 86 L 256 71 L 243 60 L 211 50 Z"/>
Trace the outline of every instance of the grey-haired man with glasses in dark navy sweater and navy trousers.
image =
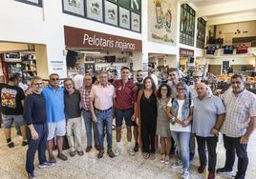
<path id="1" fill-rule="evenodd" d="M 38 168 L 53 167 L 53 163 L 46 160 L 46 140 L 48 137 L 48 126 L 46 123 L 46 102 L 42 96 L 42 78 L 34 76 L 32 78 L 32 94 L 27 96 L 24 102 L 24 120 L 27 124 L 27 137 L 29 149 L 27 150 L 26 170 L 29 178 L 34 175 L 34 154 L 38 149 Z"/>

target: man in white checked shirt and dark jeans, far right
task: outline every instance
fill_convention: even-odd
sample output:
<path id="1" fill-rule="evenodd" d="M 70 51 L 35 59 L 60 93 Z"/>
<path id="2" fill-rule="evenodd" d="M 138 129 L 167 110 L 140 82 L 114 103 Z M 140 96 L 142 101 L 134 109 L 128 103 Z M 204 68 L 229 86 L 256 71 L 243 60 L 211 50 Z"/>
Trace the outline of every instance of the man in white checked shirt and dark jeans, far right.
<path id="1" fill-rule="evenodd" d="M 218 173 L 231 172 L 238 157 L 236 179 L 244 179 L 248 166 L 246 152 L 249 136 L 256 127 L 256 95 L 245 89 L 245 76 L 234 74 L 231 77 L 232 90 L 224 92 L 223 101 L 226 109 L 224 125 L 225 165 L 217 169 Z"/>

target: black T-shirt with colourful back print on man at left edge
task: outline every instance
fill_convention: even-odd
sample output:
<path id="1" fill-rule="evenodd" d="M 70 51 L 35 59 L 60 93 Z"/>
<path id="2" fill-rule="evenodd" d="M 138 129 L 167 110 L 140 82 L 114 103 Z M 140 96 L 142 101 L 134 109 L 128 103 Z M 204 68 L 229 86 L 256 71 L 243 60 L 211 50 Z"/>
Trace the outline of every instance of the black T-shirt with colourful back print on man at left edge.
<path id="1" fill-rule="evenodd" d="M 8 84 L 0 84 L 1 110 L 6 115 L 23 114 L 22 100 L 25 99 L 23 89 Z"/>

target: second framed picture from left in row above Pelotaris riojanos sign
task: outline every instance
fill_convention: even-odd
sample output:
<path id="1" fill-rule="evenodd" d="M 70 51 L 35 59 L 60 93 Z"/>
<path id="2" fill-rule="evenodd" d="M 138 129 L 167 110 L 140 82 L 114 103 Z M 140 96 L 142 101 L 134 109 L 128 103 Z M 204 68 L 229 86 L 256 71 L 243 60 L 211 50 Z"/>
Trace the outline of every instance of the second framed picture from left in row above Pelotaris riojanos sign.
<path id="1" fill-rule="evenodd" d="M 87 17 L 96 21 L 103 21 L 102 0 L 87 0 L 86 1 Z"/>

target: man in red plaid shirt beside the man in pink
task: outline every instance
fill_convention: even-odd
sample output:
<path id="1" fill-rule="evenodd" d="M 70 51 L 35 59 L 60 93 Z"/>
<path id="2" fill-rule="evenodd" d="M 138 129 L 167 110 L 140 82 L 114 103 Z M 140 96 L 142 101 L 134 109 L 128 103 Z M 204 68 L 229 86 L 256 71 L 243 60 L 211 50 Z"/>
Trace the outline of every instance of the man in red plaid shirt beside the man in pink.
<path id="1" fill-rule="evenodd" d="M 93 135 L 92 129 L 94 129 L 94 140 L 95 140 L 95 147 L 98 150 L 98 140 L 97 140 L 97 129 L 96 123 L 93 122 L 92 113 L 90 110 L 90 92 L 92 89 L 92 76 L 89 74 L 85 74 L 83 78 L 83 86 L 80 88 L 81 94 L 81 107 L 82 107 L 82 114 L 84 118 L 84 125 L 86 129 L 86 137 L 87 137 L 87 147 L 85 149 L 86 152 L 91 151 L 93 146 Z"/>

